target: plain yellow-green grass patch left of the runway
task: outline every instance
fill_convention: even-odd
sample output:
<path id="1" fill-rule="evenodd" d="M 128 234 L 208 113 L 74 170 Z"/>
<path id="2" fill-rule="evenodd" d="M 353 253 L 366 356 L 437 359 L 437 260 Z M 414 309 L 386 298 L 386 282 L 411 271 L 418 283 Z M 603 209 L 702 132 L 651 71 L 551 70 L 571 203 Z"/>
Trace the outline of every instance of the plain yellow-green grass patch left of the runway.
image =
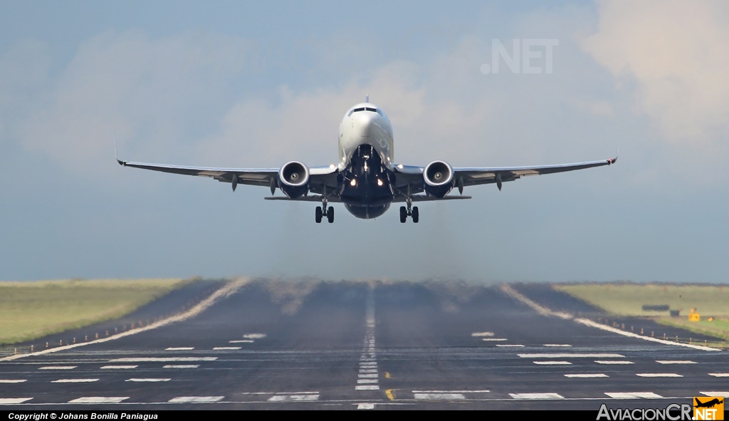
<path id="1" fill-rule="evenodd" d="M 68 279 L 0 282 L 0 344 L 82 328 L 129 314 L 192 281 Z"/>

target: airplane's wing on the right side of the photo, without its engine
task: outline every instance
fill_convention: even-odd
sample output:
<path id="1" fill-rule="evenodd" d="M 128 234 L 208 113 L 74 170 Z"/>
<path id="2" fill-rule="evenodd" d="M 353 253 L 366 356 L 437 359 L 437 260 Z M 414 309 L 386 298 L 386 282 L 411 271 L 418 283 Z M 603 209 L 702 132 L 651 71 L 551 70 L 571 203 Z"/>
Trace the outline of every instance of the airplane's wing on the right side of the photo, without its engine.
<path id="1" fill-rule="evenodd" d="M 501 190 L 502 182 L 514 181 L 521 177 L 539 174 L 554 174 L 558 172 L 575 171 L 578 169 L 588 169 L 596 166 L 612 165 L 617 162 L 617 157 L 604 159 L 601 161 L 588 161 L 579 163 L 564 163 L 558 165 L 546 166 L 504 166 L 492 168 L 453 168 L 453 182 L 456 187 L 462 189 L 469 185 L 481 185 L 496 183 Z M 395 172 L 398 173 L 398 188 L 403 191 L 410 185 L 411 193 L 419 193 L 422 191 L 423 172 L 425 168 L 422 166 L 395 166 Z M 405 186 L 402 186 L 404 180 Z M 420 186 L 420 187 L 416 187 Z M 448 196 L 446 196 L 448 197 Z"/>

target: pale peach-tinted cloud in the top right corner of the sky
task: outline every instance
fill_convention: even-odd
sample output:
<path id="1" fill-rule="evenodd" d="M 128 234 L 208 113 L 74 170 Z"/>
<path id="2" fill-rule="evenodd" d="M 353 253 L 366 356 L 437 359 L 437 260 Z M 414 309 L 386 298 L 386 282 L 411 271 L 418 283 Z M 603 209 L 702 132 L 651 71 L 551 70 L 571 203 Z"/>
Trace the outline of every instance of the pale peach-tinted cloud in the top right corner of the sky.
<path id="1" fill-rule="evenodd" d="M 666 139 L 725 143 L 728 20 L 725 1 L 606 0 L 599 3 L 599 30 L 584 47 L 612 74 L 636 82 L 642 110 Z"/>

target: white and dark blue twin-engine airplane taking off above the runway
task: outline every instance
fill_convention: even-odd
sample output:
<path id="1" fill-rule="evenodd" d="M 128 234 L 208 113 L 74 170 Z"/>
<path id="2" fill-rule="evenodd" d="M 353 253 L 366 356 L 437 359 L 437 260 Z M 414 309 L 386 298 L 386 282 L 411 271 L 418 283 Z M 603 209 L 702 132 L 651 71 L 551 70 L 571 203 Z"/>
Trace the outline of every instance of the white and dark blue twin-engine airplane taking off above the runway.
<path id="1" fill-rule="evenodd" d="M 321 223 L 324 217 L 329 223 L 334 222 L 334 207 L 330 203 L 342 203 L 349 213 L 362 219 L 380 217 L 391 204 L 403 203 L 405 206 L 399 209 L 400 222 L 405 223 L 410 217 L 413 223 L 418 223 L 420 212 L 418 206 L 413 206 L 414 202 L 467 199 L 471 196 L 463 196 L 463 190 L 468 186 L 496 184 L 502 190 L 504 182 L 521 177 L 588 169 L 617 161 L 616 156 L 602 161 L 549 166 L 457 168 L 445 161 L 432 161 L 426 166 L 402 165 L 394 161 L 390 120 L 380 107 L 370 103 L 369 95 L 363 103 L 348 109 L 339 125 L 338 165 L 309 167 L 300 161 L 290 161 L 278 169 L 204 168 L 116 158 L 122 166 L 229 182 L 233 191 L 239 184 L 268 187 L 271 192 L 266 197 L 268 200 L 321 202 L 314 214 L 316 223 Z M 276 188 L 284 196 L 273 196 Z M 448 195 L 453 188 L 459 191 L 459 196 Z"/>

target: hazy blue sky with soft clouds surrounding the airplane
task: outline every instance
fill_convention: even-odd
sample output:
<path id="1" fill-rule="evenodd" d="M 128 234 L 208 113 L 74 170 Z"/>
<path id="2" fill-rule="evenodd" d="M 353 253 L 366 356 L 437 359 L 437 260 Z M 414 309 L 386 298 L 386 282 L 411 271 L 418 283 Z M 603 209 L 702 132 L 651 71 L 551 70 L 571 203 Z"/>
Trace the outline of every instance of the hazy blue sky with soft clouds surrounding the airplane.
<path id="1" fill-rule="evenodd" d="M 5 1 L 0 279 L 724 282 L 728 19 L 720 1 Z M 552 72 L 481 72 L 514 40 L 558 42 Z M 418 225 L 341 207 L 317 225 L 267 189 L 114 162 L 115 133 L 130 161 L 326 165 L 367 93 L 400 163 L 620 161 L 467 188 Z"/>

